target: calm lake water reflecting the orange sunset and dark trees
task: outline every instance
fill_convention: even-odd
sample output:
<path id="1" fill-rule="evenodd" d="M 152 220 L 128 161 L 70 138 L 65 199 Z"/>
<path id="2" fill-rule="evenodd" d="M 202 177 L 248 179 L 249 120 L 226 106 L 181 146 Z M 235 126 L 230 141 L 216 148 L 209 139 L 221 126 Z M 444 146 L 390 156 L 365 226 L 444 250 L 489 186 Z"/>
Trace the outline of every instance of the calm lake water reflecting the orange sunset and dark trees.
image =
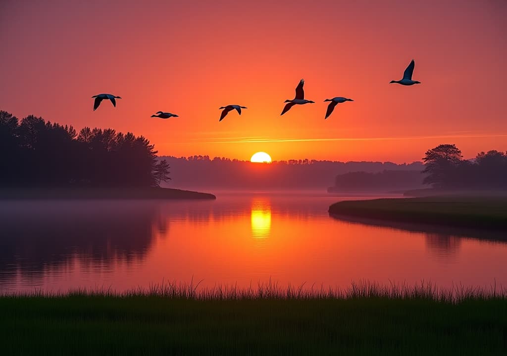
<path id="1" fill-rule="evenodd" d="M 344 199 L 217 194 L 204 202 L 0 202 L 0 290 L 117 291 L 165 281 L 348 286 L 368 279 L 507 286 L 502 234 L 330 217 Z M 483 240 L 479 240 L 482 238 Z"/>

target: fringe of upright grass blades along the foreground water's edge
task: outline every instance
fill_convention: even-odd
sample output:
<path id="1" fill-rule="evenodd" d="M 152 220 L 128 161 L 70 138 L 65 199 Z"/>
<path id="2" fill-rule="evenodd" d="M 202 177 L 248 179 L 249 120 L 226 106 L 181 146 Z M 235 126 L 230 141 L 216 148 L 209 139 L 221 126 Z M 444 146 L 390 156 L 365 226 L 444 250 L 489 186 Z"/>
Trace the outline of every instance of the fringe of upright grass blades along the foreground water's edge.
<path id="1" fill-rule="evenodd" d="M 419 284 L 410 285 L 405 282 L 391 282 L 382 285 L 376 282 L 359 281 L 351 282 L 345 288 L 328 287 L 322 285 L 300 286 L 288 284 L 283 287 L 271 280 L 266 283 L 258 283 L 247 288 L 238 288 L 237 285 L 218 284 L 213 287 L 200 287 L 202 281 L 194 283 L 165 282 L 150 284 L 148 288 L 132 288 L 118 292 L 114 289 L 77 288 L 68 291 L 44 291 L 34 289 L 25 292 L 0 291 L 0 298 L 69 298 L 69 297 L 159 297 L 169 299 L 227 301 L 227 300 L 322 300 L 322 299 L 390 299 L 390 300 L 428 300 L 443 303 L 459 303 L 466 300 L 507 300 L 507 288 L 497 286 L 496 281 L 489 287 L 453 285 L 450 288 L 439 287 L 429 281 L 421 281 Z"/>

